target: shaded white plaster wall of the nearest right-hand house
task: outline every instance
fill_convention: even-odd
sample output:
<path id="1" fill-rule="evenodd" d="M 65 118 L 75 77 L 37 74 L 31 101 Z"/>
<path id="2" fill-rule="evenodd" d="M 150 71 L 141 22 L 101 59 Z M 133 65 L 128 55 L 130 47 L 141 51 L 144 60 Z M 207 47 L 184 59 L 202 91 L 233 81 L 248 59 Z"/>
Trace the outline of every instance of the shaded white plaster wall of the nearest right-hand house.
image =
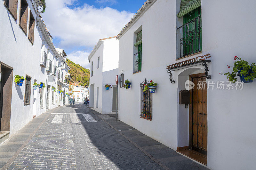
<path id="1" fill-rule="evenodd" d="M 177 1 L 180 3 L 180 1 Z M 220 5 L 221 4 L 221 5 Z M 119 89 L 119 120 L 176 150 L 188 144 L 188 109 L 178 104 L 178 94 L 189 74 L 204 72 L 203 66 L 172 71 L 166 66 L 199 55 L 211 54 L 209 81 L 227 81 L 234 57 L 255 62 L 255 1 L 202 1 L 202 42 L 200 54 L 176 61 L 176 17 L 174 1 L 157 0 L 119 39 L 119 74 L 132 82 L 131 89 Z M 157 23 L 157 24 L 156 24 Z M 142 71 L 132 74 L 134 32 L 142 25 Z M 158 83 L 153 94 L 152 121 L 140 118 L 140 83 Z M 208 81 L 208 83 L 209 83 Z M 256 80 L 243 90 L 208 89 L 208 161 L 210 169 L 254 169 L 256 156 L 254 96 Z M 129 99 L 129 100 L 127 100 Z"/>

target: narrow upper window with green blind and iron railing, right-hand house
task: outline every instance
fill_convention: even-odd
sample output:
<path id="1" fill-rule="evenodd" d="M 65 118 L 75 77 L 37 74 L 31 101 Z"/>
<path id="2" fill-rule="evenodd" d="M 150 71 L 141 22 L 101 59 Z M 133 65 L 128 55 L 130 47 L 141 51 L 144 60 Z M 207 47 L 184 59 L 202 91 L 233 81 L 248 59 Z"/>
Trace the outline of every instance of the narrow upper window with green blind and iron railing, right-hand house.
<path id="1" fill-rule="evenodd" d="M 134 46 L 138 47 L 138 52 L 133 57 L 133 73 L 137 73 L 141 71 L 142 31 L 137 34 Z"/>

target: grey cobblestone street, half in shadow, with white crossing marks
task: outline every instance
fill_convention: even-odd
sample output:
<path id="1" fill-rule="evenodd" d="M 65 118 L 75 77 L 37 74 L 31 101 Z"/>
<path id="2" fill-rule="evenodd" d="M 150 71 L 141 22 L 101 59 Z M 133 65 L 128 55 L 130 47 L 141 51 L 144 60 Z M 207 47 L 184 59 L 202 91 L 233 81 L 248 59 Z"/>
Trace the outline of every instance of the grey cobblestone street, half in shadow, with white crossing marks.
<path id="1" fill-rule="evenodd" d="M 19 135 L 22 137 L 18 138 Z M 10 158 L 6 157 L 8 153 Z M 116 121 L 115 117 L 100 115 L 84 104 L 58 107 L 33 119 L 0 146 L 0 167 L 207 169 Z"/>

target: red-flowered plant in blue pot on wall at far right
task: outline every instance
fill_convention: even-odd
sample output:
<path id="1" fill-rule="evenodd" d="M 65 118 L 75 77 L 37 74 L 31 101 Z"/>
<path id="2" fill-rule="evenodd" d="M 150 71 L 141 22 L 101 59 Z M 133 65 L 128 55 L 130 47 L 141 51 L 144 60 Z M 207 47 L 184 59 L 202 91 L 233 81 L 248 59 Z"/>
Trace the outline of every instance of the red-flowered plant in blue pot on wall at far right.
<path id="1" fill-rule="evenodd" d="M 241 82 L 244 83 L 250 83 L 253 81 L 254 78 L 256 78 L 256 64 L 252 63 L 249 65 L 249 63 L 245 60 L 242 60 L 242 58 L 238 58 L 237 56 L 234 57 L 235 63 L 233 67 L 233 72 L 227 72 L 227 73 L 220 73 L 221 75 L 227 75 L 228 81 L 230 82 L 236 82 L 237 78 L 236 75 L 239 76 Z M 232 67 L 227 65 L 228 68 Z"/>

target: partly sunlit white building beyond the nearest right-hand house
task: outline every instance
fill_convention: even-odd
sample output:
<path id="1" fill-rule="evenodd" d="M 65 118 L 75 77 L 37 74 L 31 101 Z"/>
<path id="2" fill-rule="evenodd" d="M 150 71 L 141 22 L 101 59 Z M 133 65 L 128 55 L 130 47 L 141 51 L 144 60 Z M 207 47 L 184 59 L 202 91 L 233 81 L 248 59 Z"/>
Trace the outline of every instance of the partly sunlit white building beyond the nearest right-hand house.
<path id="1" fill-rule="evenodd" d="M 89 107 L 102 114 L 116 111 L 118 49 L 116 37 L 100 39 L 88 56 L 91 65 Z M 108 91 L 106 84 L 112 87 Z"/>

